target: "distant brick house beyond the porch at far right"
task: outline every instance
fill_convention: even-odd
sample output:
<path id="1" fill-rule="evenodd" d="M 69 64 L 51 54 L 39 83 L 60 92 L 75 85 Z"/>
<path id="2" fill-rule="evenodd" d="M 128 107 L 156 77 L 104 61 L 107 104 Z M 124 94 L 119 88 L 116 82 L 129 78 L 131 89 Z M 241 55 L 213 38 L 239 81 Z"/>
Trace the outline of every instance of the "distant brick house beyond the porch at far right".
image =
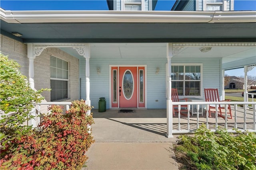
<path id="1" fill-rule="evenodd" d="M 247 89 L 254 89 L 256 87 L 256 81 L 247 80 Z M 244 78 L 229 76 L 228 85 L 225 89 L 244 89 Z"/>

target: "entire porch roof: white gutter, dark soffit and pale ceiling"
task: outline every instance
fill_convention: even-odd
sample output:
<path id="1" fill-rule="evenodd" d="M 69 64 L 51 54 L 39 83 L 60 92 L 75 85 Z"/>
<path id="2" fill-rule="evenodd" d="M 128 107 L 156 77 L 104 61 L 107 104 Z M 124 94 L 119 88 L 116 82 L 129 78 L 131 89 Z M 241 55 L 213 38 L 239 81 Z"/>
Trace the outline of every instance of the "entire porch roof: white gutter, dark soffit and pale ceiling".
<path id="1" fill-rule="evenodd" d="M 93 51 L 105 57 L 132 57 L 134 45 L 136 56 L 142 53 L 147 57 L 166 57 L 166 43 L 256 42 L 256 11 L 9 11 L 0 8 L 0 16 L 3 35 L 23 43 L 90 43 L 91 57 Z M 22 37 L 12 32 L 21 33 Z M 116 49 L 120 54 L 115 55 Z M 62 50 L 80 57 L 72 48 Z M 193 45 L 174 57 L 190 58 L 192 53 L 202 58 L 223 58 L 223 69 L 256 64 L 255 45 L 217 45 L 207 53 L 201 53 Z"/>

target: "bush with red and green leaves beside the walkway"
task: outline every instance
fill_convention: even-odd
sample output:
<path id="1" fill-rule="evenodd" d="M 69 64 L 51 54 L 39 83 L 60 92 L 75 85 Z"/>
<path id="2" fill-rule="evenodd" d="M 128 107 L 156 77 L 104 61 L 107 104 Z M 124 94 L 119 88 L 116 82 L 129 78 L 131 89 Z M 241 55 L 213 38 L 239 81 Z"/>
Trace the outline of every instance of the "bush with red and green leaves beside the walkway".
<path id="1" fill-rule="evenodd" d="M 94 142 L 89 128 L 94 123 L 92 114 L 86 115 L 91 107 L 80 100 L 72 102 L 66 114 L 60 106 L 50 109 L 52 113 L 44 117 L 39 131 L 17 137 L 1 151 L 1 170 L 82 168 L 87 160 L 85 153 Z"/>

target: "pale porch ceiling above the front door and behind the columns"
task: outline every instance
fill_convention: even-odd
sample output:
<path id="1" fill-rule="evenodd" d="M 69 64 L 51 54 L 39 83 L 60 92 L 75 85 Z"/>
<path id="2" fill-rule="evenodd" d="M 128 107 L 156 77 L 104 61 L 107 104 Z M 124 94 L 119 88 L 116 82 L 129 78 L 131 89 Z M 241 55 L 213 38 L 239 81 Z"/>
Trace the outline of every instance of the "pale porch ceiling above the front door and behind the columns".
<path id="1" fill-rule="evenodd" d="M 90 43 L 91 58 L 121 59 L 121 58 L 166 58 L 167 43 Z M 216 46 L 206 53 L 201 47 L 185 47 L 175 58 L 222 58 L 223 68 L 235 68 L 248 64 L 256 64 L 256 47 L 247 46 Z M 60 48 L 63 51 L 80 58 L 72 48 Z"/>

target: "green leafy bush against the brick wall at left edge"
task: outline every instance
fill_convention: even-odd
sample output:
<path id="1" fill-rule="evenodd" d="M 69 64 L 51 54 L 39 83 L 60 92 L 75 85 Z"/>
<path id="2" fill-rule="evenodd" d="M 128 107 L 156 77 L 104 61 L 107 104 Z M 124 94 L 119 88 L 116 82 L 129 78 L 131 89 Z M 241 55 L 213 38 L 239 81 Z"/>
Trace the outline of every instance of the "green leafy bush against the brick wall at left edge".
<path id="1" fill-rule="evenodd" d="M 11 145 L 13 137 L 30 131 L 32 127 L 27 126 L 26 121 L 33 118 L 30 114 L 33 104 L 42 101 L 42 90 L 30 88 L 26 76 L 20 72 L 20 65 L 0 53 L 1 150 Z"/>

